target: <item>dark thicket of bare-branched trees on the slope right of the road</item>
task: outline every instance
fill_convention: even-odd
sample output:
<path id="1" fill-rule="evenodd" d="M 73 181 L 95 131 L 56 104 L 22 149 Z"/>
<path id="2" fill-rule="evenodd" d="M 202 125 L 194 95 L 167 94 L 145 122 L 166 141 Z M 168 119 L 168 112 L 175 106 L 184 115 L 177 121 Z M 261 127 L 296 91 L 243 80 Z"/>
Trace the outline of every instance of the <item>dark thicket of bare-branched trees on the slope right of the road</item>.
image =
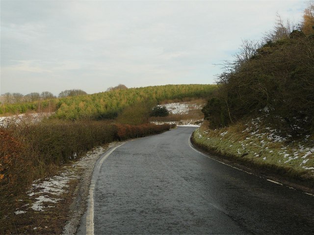
<path id="1" fill-rule="evenodd" d="M 292 136 L 300 134 L 295 126 L 309 130 L 310 122 L 313 132 L 314 37 L 294 30 L 288 38 L 268 41 L 253 54 L 249 59 L 236 57 L 219 75 L 218 99 L 209 100 L 203 110 L 210 125 L 225 126 L 267 107 L 271 122 Z M 302 123 L 304 119 L 309 121 Z"/>

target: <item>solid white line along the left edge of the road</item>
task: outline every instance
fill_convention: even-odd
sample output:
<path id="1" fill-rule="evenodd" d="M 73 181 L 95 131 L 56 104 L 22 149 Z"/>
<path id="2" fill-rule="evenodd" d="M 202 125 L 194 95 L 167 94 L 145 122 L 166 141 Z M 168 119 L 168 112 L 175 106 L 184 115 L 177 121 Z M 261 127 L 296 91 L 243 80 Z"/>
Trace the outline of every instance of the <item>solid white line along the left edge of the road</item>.
<path id="1" fill-rule="evenodd" d="M 96 166 L 96 171 L 94 170 L 94 173 L 99 172 L 101 165 L 105 161 L 105 159 L 118 147 L 122 146 L 126 142 L 114 147 L 110 150 L 105 156 L 102 157 L 99 164 Z M 96 175 L 97 175 L 96 174 Z M 88 195 L 88 206 L 87 206 L 87 212 L 86 212 L 86 235 L 94 235 L 94 189 L 95 189 L 95 180 L 91 180 L 90 186 L 89 186 L 89 195 Z"/>

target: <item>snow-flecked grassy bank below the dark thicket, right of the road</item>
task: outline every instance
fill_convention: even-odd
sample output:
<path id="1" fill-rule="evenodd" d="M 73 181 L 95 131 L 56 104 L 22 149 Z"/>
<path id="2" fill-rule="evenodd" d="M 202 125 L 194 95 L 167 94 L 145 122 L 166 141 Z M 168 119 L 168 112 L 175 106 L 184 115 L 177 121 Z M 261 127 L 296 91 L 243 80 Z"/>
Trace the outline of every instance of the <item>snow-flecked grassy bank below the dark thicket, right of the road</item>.
<path id="1" fill-rule="evenodd" d="M 261 124 L 261 119 L 211 130 L 204 123 L 192 136 L 197 147 L 253 168 L 259 173 L 278 175 L 295 183 L 314 186 L 313 136 L 291 141 Z"/>

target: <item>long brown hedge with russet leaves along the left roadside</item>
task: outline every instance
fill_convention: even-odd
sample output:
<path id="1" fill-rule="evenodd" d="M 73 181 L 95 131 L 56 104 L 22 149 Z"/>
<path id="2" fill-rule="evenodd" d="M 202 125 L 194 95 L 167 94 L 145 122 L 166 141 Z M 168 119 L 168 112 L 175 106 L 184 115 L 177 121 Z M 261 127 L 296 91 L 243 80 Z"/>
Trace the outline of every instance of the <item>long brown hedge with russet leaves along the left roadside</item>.
<path id="1" fill-rule="evenodd" d="M 53 175 L 60 166 L 76 161 L 95 146 L 161 133 L 170 127 L 49 119 L 0 127 L 1 224 L 14 210 L 14 201 L 34 180 Z"/>

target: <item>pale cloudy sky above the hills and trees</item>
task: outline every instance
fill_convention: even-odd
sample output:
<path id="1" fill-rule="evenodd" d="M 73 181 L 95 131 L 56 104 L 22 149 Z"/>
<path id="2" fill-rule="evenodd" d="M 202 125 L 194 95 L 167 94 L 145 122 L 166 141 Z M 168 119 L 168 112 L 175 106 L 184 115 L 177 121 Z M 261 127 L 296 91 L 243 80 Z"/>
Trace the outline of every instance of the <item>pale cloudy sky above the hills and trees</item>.
<path id="1" fill-rule="evenodd" d="M 0 94 L 214 84 L 307 1 L 0 0 Z"/>

